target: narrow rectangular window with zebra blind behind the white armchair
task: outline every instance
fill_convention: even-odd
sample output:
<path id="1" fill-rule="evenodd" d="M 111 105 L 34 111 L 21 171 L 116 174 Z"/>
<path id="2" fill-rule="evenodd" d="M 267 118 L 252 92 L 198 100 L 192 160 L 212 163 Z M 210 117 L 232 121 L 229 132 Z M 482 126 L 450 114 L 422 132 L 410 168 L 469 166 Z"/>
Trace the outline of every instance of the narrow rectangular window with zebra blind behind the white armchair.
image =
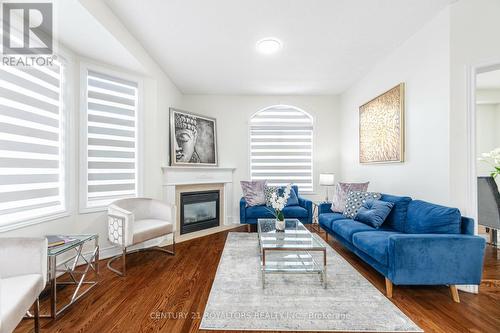
<path id="1" fill-rule="evenodd" d="M 82 115 L 81 211 L 138 196 L 138 83 L 90 69 Z"/>

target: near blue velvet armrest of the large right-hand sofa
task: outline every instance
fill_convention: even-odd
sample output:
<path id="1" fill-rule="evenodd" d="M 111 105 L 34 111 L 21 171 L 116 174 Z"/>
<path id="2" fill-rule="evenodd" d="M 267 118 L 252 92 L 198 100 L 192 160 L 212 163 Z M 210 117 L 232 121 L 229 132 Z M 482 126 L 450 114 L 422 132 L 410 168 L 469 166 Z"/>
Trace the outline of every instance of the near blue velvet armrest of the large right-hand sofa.
<path id="1" fill-rule="evenodd" d="M 388 278 L 395 284 L 479 284 L 484 247 L 477 236 L 391 235 Z"/>

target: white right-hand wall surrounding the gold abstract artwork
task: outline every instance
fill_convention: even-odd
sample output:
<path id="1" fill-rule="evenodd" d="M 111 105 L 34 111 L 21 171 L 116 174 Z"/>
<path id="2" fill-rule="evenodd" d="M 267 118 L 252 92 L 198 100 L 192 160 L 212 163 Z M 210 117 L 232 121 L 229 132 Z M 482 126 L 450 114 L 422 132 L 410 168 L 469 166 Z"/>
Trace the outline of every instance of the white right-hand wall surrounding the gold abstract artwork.
<path id="1" fill-rule="evenodd" d="M 369 189 L 449 204 L 449 10 L 379 62 L 341 95 L 341 174 L 344 181 L 370 181 Z M 406 83 L 406 161 L 358 162 L 358 108 Z"/>

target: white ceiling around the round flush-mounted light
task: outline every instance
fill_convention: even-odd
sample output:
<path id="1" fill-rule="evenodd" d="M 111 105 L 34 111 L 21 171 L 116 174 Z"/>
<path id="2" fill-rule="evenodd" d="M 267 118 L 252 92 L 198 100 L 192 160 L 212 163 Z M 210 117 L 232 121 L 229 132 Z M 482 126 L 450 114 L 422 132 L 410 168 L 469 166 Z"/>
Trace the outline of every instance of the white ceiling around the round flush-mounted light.
<path id="1" fill-rule="evenodd" d="M 453 0 L 105 2 L 183 93 L 336 94 Z"/>

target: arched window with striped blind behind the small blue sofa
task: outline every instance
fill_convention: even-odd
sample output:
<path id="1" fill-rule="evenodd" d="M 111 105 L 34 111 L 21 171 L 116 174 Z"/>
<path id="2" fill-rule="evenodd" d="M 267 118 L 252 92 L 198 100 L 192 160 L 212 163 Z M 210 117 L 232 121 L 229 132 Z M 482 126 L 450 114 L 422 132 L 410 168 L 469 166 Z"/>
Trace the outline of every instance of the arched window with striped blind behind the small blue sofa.
<path id="1" fill-rule="evenodd" d="M 250 119 L 250 177 L 268 185 L 293 183 L 313 190 L 313 119 L 293 106 L 278 105 Z"/>

